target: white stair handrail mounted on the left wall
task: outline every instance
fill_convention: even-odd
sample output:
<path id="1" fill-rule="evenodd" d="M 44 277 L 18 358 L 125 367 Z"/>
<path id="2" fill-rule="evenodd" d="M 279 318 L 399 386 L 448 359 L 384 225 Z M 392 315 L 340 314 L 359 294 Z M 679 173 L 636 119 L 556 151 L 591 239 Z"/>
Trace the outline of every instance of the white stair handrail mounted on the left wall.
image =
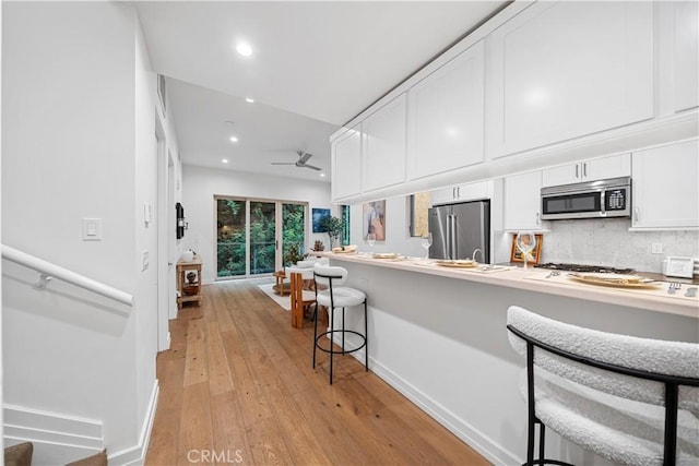
<path id="1" fill-rule="evenodd" d="M 114 299 L 115 301 L 133 306 L 133 296 L 126 291 L 121 291 L 120 289 L 105 285 L 102 282 L 97 282 L 84 275 L 69 271 L 68 268 L 63 268 L 60 265 L 56 265 L 43 259 L 27 254 L 19 249 L 2 244 L 2 258 L 38 272 L 40 276 L 36 288 L 44 289 L 46 288 L 48 280 L 51 278 L 58 278 L 80 288 L 96 292 L 97 295 Z"/>

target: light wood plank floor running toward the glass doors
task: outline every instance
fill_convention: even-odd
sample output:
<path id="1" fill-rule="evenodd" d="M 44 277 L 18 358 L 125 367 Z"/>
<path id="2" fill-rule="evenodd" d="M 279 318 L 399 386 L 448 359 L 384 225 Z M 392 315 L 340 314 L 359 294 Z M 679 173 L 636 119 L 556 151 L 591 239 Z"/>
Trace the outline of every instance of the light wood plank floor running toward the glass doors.
<path id="1" fill-rule="evenodd" d="M 170 322 L 146 465 L 485 465 L 351 356 L 311 369 L 313 330 L 246 282 Z M 370 342 L 369 342 L 370 344 Z"/>

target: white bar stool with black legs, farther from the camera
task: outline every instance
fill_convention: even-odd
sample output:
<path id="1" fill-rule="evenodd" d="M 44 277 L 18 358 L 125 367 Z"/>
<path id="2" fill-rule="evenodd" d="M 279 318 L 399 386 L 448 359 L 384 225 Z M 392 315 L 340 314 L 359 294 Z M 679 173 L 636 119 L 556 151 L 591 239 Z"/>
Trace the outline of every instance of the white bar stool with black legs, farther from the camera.
<path id="1" fill-rule="evenodd" d="M 346 355 L 365 348 L 364 367 L 369 371 L 369 347 L 367 345 L 368 326 L 367 326 L 367 296 L 364 291 L 356 288 L 342 286 L 347 279 L 346 268 L 331 266 L 324 264 L 316 264 L 313 266 L 313 279 L 316 282 L 316 307 L 313 310 L 313 369 L 316 368 L 316 350 L 328 353 L 330 355 L 330 384 L 332 385 L 333 356 Z M 324 288 L 323 288 L 324 287 Z M 321 288 L 321 289 L 319 289 Z M 359 332 L 345 328 L 345 310 L 354 306 L 364 304 L 364 335 Z M 328 316 L 330 330 L 318 334 L 318 306 L 328 308 Z M 342 327 L 333 326 L 333 314 L 335 309 L 342 309 Z M 334 348 L 334 335 L 342 335 L 342 349 Z M 359 336 L 360 345 L 355 348 L 345 348 L 345 334 L 354 334 Z M 320 345 L 320 339 L 330 336 L 330 348 Z"/>

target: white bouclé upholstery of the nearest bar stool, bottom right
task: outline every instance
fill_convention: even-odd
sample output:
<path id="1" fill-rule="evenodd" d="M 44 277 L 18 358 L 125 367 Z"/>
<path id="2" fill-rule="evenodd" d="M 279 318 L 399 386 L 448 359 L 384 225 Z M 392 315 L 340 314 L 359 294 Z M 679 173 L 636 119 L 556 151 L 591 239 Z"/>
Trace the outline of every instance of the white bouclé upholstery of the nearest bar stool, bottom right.
<path id="1" fill-rule="evenodd" d="M 608 363 L 699 377 L 699 345 L 612 334 L 557 322 L 516 306 L 508 323 L 550 346 Z M 509 333 L 522 356 L 526 344 Z M 535 414 L 561 437 L 626 465 L 662 465 L 664 384 L 534 351 Z M 520 383 L 526 399 L 526 369 Z M 679 387 L 677 465 L 699 465 L 699 389 Z"/>

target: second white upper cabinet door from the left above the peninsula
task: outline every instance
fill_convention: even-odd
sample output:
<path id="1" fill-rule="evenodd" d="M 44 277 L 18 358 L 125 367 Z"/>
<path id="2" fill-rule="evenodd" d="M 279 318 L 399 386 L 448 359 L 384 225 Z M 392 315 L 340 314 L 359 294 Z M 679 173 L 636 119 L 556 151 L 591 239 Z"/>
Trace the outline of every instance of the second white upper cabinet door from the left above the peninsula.
<path id="1" fill-rule="evenodd" d="M 363 121 L 364 191 L 405 181 L 406 96 L 401 94 Z"/>

